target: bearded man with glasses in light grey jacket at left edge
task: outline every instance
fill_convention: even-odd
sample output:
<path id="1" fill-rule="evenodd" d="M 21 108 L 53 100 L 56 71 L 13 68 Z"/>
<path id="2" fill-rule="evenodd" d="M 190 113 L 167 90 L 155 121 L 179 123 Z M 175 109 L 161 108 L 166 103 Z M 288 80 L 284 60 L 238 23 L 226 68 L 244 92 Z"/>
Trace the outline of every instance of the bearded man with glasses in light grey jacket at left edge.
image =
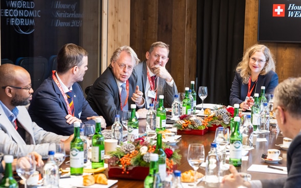
<path id="1" fill-rule="evenodd" d="M 30 75 L 13 64 L 0 66 L 0 152 L 16 157 L 36 151 L 48 155 L 49 143 L 64 142 L 70 151 L 70 137 L 47 132 L 32 122 L 25 107 L 32 98 Z"/>

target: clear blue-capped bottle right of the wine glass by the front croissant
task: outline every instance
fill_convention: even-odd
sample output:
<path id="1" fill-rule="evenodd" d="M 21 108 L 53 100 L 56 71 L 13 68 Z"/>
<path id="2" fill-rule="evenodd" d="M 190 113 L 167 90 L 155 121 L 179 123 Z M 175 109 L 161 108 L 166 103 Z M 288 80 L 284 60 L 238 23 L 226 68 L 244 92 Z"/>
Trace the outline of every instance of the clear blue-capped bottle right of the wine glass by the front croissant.
<path id="1" fill-rule="evenodd" d="M 206 185 L 218 187 L 220 184 L 220 158 L 217 153 L 217 143 L 211 143 L 206 157 Z"/>

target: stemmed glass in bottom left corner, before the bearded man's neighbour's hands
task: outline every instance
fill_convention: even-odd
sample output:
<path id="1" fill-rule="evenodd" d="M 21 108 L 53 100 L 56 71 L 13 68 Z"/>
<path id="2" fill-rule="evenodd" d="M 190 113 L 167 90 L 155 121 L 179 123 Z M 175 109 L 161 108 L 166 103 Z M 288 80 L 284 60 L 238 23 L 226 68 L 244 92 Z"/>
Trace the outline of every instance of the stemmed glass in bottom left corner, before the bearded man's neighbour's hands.
<path id="1" fill-rule="evenodd" d="M 27 188 L 27 179 L 35 172 L 35 168 L 35 157 L 33 154 L 29 153 L 25 157 L 18 158 L 16 172 L 25 181 L 25 188 Z"/>

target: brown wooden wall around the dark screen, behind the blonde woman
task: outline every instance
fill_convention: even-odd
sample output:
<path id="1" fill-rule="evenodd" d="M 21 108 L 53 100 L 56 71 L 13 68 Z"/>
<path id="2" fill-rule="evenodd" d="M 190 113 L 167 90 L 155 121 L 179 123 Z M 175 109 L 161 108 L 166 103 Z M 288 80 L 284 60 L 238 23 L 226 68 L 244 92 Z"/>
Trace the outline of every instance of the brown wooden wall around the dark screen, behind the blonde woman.
<path id="1" fill-rule="evenodd" d="M 244 49 L 255 43 L 261 43 L 275 56 L 276 73 L 279 82 L 289 77 L 301 76 L 301 44 L 257 41 L 259 0 L 246 0 Z M 271 31 L 272 32 L 272 31 Z"/>

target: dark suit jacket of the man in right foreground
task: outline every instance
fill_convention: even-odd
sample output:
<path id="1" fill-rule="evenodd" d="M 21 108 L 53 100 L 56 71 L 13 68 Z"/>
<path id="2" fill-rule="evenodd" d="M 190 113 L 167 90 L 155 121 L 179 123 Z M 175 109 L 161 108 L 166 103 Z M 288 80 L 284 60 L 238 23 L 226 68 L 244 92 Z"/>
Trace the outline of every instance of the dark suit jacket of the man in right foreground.
<path id="1" fill-rule="evenodd" d="M 279 179 L 261 180 L 263 188 L 300 187 L 301 185 L 301 133 L 291 143 L 287 151 L 288 176 Z"/>

